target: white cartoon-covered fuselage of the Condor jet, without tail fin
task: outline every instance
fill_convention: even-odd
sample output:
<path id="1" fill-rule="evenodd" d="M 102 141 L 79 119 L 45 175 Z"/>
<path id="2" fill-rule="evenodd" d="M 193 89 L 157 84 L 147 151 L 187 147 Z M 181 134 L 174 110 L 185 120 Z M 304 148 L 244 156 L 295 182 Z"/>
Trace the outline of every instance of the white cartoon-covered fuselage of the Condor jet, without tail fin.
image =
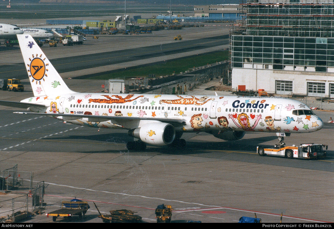
<path id="1" fill-rule="evenodd" d="M 100 115 L 138 117 L 140 120 L 92 122 L 87 118 L 67 122 L 99 128 L 138 128 L 152 122 L 147 118 L 182 120 L 175 127 L 179 132 L 200 131 L 249 131 L 303 133 L 319 130 L 321 119 L 305 104 L 285 98 L 236 97 L 236 96 L 190 96 L 148 94 L 101 94 L 73 93 L 32 97 L 21 102 L 45 104 L 50 114 Z"/>

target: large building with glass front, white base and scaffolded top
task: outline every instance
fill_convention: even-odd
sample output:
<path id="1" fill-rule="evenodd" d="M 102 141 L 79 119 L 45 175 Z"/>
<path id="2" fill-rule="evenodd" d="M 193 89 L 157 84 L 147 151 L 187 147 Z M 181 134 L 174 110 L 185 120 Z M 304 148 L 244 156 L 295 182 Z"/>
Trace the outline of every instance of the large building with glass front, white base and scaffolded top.
<path id="1" fill-rule="evenodd" d="M 231 33 L 232 88 L 334 97 L 333 0 L 245 0 Z"/>

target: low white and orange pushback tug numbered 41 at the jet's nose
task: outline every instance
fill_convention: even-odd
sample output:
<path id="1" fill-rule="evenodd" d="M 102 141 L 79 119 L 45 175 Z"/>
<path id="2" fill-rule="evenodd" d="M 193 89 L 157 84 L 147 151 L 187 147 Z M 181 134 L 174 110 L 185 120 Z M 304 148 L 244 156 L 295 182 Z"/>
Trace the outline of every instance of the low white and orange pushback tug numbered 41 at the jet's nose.
<path id="1" fill-rule="evenodd" d="M 287 158 L 308 158 L 308 159 L 320 159 L 326 157 L 326 151 L 328 145 L 321 145 L 315 143 L 306 143 L 299 146 L 286 146 L 282 148 L 264 148 L 257 146 L 257 152 L 260 156 L 275 155 Z"/>

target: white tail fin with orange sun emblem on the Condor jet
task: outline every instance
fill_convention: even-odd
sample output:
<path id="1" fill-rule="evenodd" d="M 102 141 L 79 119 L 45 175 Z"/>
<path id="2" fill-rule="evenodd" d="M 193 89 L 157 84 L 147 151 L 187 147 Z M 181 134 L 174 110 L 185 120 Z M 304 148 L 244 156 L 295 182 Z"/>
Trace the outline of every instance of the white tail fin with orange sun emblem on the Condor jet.
<path id="1" fill-rule="evenodd" d="M 34 96 L 74 93 L 64 83 L 31 35 L 17 35 Z"/>

